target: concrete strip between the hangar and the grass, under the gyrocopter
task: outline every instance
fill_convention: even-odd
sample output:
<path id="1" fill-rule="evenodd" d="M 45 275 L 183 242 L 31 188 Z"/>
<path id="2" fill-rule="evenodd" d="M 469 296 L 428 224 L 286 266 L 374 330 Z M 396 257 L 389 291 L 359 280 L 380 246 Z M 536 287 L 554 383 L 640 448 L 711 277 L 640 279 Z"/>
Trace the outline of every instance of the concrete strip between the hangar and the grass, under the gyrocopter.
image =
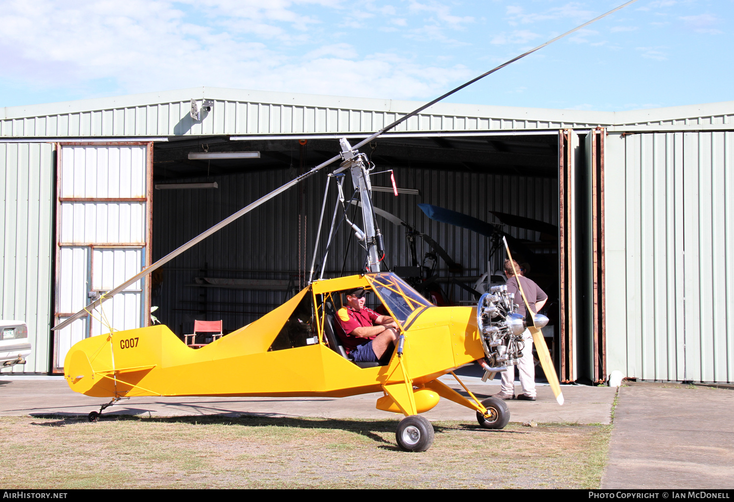
<path id="1" fill-rule="evenodd" d="M 480 401 L 498 393 L 499 381 L 484 383 L 476 377 L 460 377 Z M 466 395 L 451 377 L 441 380 Z M 505 401 L 511 422 L 609 423 L 616 389 L 565 385 L 565 404 L 559 406 L 551 388 L 538 385 L 537 401 Z M 516 394 L 522 393 L 519 386 Z M 382 393 L 347 398 L 220 398 L 220 397 L 141 397 L 120 401 L 103 415 L 181 416 L 255 414 L 319 418 L 385 418 L 402 415 L 375 408 Z M 105 401 L 75 393 L 62 377 L 15 377 L 0 374 L 0 415 L 87 415 L 98 411 Z M 447 399 L 423 414 L 432 421 L 475 421 L 476 413 Z"/>

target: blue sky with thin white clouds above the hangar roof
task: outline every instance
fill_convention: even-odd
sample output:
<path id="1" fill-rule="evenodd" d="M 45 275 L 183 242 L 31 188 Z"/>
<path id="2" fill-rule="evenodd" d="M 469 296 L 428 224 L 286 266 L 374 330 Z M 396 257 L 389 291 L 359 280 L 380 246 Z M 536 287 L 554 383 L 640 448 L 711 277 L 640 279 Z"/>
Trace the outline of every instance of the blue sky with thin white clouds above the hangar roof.
<path id="1" fill-rule="evenodd" d="M 211 86 L 427 101 L 623 0 L 0 0 L 0 106 Z M 448 101 L 732 101 L 734 0 L 638 0 Z"/>

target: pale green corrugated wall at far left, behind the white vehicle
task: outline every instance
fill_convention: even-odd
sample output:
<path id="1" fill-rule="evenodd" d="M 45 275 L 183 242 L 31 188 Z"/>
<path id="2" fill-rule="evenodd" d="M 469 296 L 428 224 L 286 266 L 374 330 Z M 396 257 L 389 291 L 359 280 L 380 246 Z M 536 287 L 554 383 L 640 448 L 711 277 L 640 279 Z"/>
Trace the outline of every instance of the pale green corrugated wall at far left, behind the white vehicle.
<path id="1" fill-rule="evenodd" d="M 33 352 L 12 371 L 48 371 L 51 329 L 54 150 L 0 143 L 0 317 L 26 321 Z"/>

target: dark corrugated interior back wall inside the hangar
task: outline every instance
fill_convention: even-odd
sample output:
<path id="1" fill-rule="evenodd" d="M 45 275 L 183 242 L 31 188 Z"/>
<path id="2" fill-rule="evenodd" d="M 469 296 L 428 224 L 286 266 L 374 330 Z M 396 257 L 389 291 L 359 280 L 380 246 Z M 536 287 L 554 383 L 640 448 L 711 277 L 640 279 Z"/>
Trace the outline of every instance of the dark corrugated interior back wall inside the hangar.
<path id="1" fill-rule="evenodd" d="M 388 167 L 379 167 L 379 170 Z M 289 170 L 252 172 L 241 175 L 208 178 L 216 180 L 219 189 L 156 190 L 153 195 L 153 259 L 161 258 L 198 233 L 243 207 L 252 200 L 286 183 L 294 176 Z M 487 175 L 480 172 L 448 172 L 415 168 L 396 168 L 401 188 L 421 190 L 421 196 L 375 192 L 377 207 L 390 211 L 418 230 L 429 233 L 455 261 L 465 267 L 462 275 L 482 274 L 487 263 L 487 238 L 429 220 L 418 203 L 432 203 L 473 217 L 491 221 L 490 210 L 542 219 L 558 224 L 558 186 L 554 178 L 528 178 L 516 175 Z M 382 179 L 381 177 L 384 177 Z M 281 194 L 260 208 L 233 222 L 164 266 L 162 284 L 153 280 L 153 305 L 161 306 L 161 321 L 181 334 L 190 332 L 193 319 L 224 319 L 225 330 L 234 330 L 257 319 L 280 305 L 290 293 L 286 291 L 245 291 L 192 285 L 194 277 L 292 280 L 294 286 L 305 285 L 299 276 L 299 263 L 310 269 L 313 242 L 316 237 L 325 173 L 309 178 L 303 185 Z M 203 180 L 196 180 L 203 181 Z M 376 185 L 388 185 L 389 173 L 374 176 Z M 347 197 L 351 183 L 345 183 Z M 299 246 L 299 197 L 304 197 L 305 219 L 300 219 L 302 243 Z M 332 185 L 327 205 L 328 225 L 335 203 Z M 350 217 L 351 219 L 351 217 Z M 360 222 L 361 218 L 353 219 Z M 388 253 L 388 266 L 409 266 L 404 228 L 377 217 Z M 344 227 L 344 225 L 343 225 Z M 526 236 L 520 230 L 518 237 Z M 361 269 L 364 256 L 355 250 L 353 239 L 346 252 L 348 233 L 341 228 L 330 251 L 325 277 Z M 305 238 L 304 238 L 305 236 Z M 303 244 L 303 243 L 307 244 Z M 429 247 L 418 239 L 418 260 Z M 299 255 L 300 253 L 300 255 Z M 347 256 L 344 261 L 344 256 Z M 303 266 L 301 267 L 303 268 Z M 441 263 L 441 268 L 445 268 Z M 274 272 L 281 271 L 281 272 Z M 442 272 L 446 275 L 446 272 Z M 469 299 L 455 285 L 450 288 L 454 299 Z M 191 311 L 194 310 L 194 311 Z M 201 310 L 197 313 L 197 310 Z"/>

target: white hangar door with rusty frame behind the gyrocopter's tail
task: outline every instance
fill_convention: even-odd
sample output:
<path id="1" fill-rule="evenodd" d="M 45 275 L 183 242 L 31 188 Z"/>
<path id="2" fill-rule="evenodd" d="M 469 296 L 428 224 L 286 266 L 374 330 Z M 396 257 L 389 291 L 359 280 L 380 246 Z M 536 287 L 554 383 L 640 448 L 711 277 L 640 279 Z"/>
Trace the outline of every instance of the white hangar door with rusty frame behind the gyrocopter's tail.
<path id="1" fill-rule="evenodd" d="M 152 151 L 139 142 L 59 145 L 54 325 L 150 264 Z M 149 310 L 140 280 L 54 332 L 54 372 L 77 341 L 147 326 Z"/>

